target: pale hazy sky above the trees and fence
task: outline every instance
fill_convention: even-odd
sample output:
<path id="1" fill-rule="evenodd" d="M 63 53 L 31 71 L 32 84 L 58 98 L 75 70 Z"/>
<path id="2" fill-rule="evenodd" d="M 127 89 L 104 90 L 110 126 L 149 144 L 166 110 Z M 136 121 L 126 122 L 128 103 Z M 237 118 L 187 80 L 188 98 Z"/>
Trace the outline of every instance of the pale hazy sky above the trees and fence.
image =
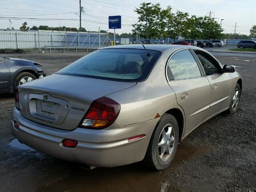
<path id="1" fill-rule="evenodd" d="M 82 0 L 84 13 L 82 27 L 90 31 L 108 30 L 108 16 L 121 15 L 122 28 L 116 33 L 131 32 L 131 24 L 138 21 L 134 8 L 139 7 L 140 0 Z M 224 33 L 250 34 L 252 25 L 256 25 L 256 0 L 148 0 L 153 4 L 160 3 L 162 8 L 168 5 L 172 12 L 177 10 L 189 15 L 205 16 L 212 12 L 212 17 L 220 23 Z M 79 28 L 79 0 L 0 0 L 0 28 L 19 29 L 26 20 L 29 27 L 48 25 Z M 14 19 L 16 17 L 16 19 Z M 17 19 L 18 18 L 18 19 Z M 34 18 L 29 20 L 27 18 Z M 38 20 L 41 19 L 41 20 Z M 42 20 L 45 19 L 45 20 Z M 49 20 L 54 19 L 54 20 Z M 109 30 L 113 32 L 113 29 Z"/>

